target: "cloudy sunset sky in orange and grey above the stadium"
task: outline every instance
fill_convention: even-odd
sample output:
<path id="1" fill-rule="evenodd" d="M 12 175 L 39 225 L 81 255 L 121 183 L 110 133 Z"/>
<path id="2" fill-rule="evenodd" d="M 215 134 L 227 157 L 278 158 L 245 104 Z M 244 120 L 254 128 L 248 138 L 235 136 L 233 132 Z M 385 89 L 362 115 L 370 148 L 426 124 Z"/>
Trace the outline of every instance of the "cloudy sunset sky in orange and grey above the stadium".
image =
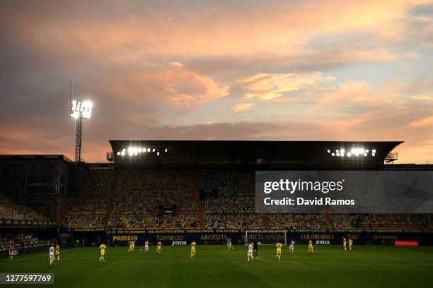
<path id="1" fill-rule="evenodd" d="M 433 1 L 0 0 L 0 154 L 110 139 L 404 140 L 433 162 Z"/>

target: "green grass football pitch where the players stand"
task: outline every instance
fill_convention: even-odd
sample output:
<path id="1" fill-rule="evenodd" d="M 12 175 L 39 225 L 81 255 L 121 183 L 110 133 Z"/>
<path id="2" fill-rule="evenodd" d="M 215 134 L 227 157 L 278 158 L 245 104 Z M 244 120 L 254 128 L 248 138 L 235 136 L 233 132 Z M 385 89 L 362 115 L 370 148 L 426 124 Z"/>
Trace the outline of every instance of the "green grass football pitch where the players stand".
<path id="1" fill-rule="evenodd" d="M 54 285 L 23 287 L 433 287 L 433 247 L 295 246 L 294 255 L 284 246 L 275 260 L 273 246 L 260 246 L 259 259 L 246 261 L 246 248 L 197 246 L 189 260 L 186 246 L 154 247 L 143 255 L 137 247 L 109 247 L 106 263 L 99 264 L 98 248 L 63 249 L 62 259 L 48 265 L 42 253 L 0 260 L 0 272 L 52 272 Z M 15 285 L 16 287 L 18 285 Z"/>

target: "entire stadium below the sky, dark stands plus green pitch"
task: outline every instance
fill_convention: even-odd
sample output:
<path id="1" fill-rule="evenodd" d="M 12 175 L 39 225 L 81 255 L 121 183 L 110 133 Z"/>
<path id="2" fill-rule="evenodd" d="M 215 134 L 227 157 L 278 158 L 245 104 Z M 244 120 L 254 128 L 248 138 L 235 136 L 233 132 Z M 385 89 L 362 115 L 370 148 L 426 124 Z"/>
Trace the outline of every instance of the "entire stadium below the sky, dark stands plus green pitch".
<path id="1" fill-rule="evenodd" d="M 1 155 L 0 272 L 53 272 L 59 287 L 141 281 L 158 287 L 316 287 L 323 277 L 339 287 L 364 274 L 369 278 L 358 280 L 360 287 L 403 287 L 412 277 L 429 287 L 432 214 L 278 214 L 255 205 L 257 172 L 431 173 L 431 165 L 390 163 L 400 143 L 110 140 L 108 163 Z M 361 148 L 352 157 L 330 152 Z M 352 239 L 353 251 L 343 249 L 343 238 Z M 248 263 L 245 245 L 252 241 L 258 256 Z M 131 242 L 137 248 L 127 252 Z M 190 260 L 192 242 L 197 255 Z M 15 255 L 8 260 L 11 243 Z M 283 244 L 280 260 L 277 243 Z M 52 244 L 61 247 L 61 258 L 51 267 L 46 257 Z M 101 244 L 108 246 L 103 264 Z M 311 271 L 318 277 L 306 277 Z"/>

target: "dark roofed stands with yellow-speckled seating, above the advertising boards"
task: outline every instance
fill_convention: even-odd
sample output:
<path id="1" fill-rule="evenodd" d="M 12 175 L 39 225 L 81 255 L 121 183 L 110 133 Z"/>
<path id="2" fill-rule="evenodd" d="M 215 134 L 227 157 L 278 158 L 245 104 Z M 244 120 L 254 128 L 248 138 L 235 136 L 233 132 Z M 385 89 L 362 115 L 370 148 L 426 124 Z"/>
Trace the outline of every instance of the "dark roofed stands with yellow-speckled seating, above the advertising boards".
<path id="1" fill-rule="evenodd" d="M 132 143 L 148 147 L 148 152 L 149 147 L 161 150 L 165 153 L 165 167 L 152 153 L 141 158 L 119 156 L 116 152 L 132 145 L 131 141 L 113 140 L 110 143 L 114 164 L 74 163 L 62 155 L 3 155 L 0 161 L 0 218 L 57 220 L 59 226 L 71 228 L 432 229 L 431 215 L 265 215 L 255 212 L 255 165 L 269 165 L 273 157 L 278 160 L 275 165 L 280 169 L 284 168 L 282 163 L 301 169 L 313 169 L 314 165 L 320 165 L 317 166 L 320 169 L 340 169 L 341 162 L 335 162 L 326 150 L 354 143 Z M 366 158 L 362 167 L 343 168 L 385 169 L 384 157 L 398 144 L 364 142 L 364 147 L 381 151 L 377 159 Z M 197 168 L 197 163 L 203 159 L 207 162 Z M 388 169 L 417 167 L 388 165 Z M 265 166 L 265 169 L 269 167 Z M 433 167 L 421 165 L 420 169 Z M 28 174 L 62 174 L 68 178 L 67 193 L 57 188 L 53 194 L 32 195 L 25 191 Z"/>

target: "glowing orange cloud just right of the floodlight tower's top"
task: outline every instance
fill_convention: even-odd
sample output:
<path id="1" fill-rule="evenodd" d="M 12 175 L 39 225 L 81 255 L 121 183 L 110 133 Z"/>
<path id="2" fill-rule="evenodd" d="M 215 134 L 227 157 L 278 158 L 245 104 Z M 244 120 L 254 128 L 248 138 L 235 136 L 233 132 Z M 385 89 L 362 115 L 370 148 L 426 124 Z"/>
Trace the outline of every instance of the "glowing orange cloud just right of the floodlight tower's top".
<path id="1" fill-rule="evenodd" d="M 168 66 L 153 66 L 150 71 L 131 69 L 114 71 L 112 83 L 106 88 L 112 97 L 128 98 L 154 107 L 193 109 L 204 103 L 226 97 L 230 86 L 215 82 L 179 62 Z"/>

